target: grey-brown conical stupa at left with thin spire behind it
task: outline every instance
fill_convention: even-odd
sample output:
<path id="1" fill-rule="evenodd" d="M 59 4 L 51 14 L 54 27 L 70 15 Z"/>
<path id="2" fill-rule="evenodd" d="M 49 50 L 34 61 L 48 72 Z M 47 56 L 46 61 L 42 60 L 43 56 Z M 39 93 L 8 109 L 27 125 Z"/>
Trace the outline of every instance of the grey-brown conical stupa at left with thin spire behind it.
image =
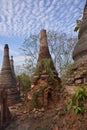
<path id="1" fill-rule="evenodd" d="M 3 89 L 7 91 L 8 105 L 13 105 L 19 98 L 12 67 L 14 68 L 12 59 L 11 62 L 9 59 L 9 47 L 8 44 L 5 44 L 3 64 L 0 74 L 0 91 Z"/>

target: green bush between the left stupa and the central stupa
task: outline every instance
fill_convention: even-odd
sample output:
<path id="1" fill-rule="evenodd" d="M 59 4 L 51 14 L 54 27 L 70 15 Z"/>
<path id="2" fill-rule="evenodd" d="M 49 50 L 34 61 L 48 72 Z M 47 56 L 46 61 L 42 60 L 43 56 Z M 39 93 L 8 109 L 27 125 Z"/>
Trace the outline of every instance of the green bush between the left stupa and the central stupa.
<path id="1" fill-rule="evenodd" d="M 22 82 L 24 91 L 27 91 L 30 89 L 31 80 L 28 75 L 26 75 L 25 73 L 22 73 L 17 76 L 17 80 Z"/>

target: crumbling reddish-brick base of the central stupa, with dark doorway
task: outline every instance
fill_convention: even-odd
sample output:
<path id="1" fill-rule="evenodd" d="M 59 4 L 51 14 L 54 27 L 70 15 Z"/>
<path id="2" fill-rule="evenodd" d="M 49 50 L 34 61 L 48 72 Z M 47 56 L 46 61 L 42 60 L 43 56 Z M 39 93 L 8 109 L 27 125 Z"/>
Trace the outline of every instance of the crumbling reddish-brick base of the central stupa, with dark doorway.
<path id="1" fill-rule="evenodd" d="M 49 60 L 49 59 L 47 59 Z M 31 95 L 34 107 L 51 107 L 60 99 L 61 81 L 57 72 L 51 74 L 42 70 L 41 75 L 34 75 Z"/>

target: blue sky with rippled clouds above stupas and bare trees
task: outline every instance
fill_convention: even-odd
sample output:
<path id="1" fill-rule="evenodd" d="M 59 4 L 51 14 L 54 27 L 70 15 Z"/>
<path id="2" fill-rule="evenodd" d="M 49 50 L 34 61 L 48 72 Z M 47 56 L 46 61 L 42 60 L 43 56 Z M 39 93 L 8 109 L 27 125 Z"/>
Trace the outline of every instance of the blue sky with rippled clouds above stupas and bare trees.
<path id="1" fill-rule="evenodd" d="M 0 66 L 4 44 L 9 45 L 15 65 L 24 61 L 20 46 L 41 29 L 73 36 L 75 21 L 82 16 L 86 0 L 0 0 Z"/>

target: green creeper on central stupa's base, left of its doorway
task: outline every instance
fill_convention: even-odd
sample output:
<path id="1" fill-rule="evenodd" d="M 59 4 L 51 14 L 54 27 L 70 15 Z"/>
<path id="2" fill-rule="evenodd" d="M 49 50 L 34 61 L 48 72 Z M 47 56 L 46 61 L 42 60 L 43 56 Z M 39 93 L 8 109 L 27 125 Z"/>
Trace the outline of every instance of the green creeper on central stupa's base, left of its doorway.
<path id="1" fill-rule="evenodd" d="M 33 95 L 32 95 L 32 104 L 33 104 L 33 107 L 37 107 L 37 97 L 38 96 L 42 96 L 42 102 L 43 102 L 43 92 L 44 92 L 44 89 L 46 87 L 47 87 L 47 84 L 42 84 L 42 85 L 40 85 L 38 91 L 33 92 Z"/>

